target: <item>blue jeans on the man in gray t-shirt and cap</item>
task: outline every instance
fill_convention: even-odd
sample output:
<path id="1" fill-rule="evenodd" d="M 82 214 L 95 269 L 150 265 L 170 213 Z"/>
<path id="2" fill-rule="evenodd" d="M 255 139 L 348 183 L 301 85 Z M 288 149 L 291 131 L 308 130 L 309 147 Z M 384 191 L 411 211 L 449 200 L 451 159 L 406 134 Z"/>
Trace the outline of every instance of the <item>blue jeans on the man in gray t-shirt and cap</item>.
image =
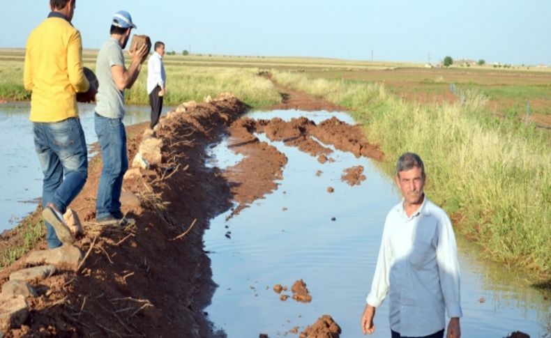
<path id="1" fill-rule="evenodd" d="M 96 200 L 97 220 L 121 211 L 121 189 L 124 173 L 128 169 L 128 153 L 121 118 L 107 118 L 96 113 L 94 125 L 103 160 Z"/>

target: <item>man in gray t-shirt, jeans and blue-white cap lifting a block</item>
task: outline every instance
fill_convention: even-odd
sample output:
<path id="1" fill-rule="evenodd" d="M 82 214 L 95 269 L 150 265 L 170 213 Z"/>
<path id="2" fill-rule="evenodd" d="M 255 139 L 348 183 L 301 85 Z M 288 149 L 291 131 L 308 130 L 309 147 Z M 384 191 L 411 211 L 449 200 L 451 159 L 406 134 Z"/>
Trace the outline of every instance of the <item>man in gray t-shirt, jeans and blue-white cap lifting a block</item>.
<path id="1" fill-rule="evenodd" d="M 103 225 L 123 224 L 121 189 L 128 169 L 126 132 L 123 125 L 124 90 L 136 81 L 147 55 L 147 47 L 130 51 L 130 67 L 124 66 L 123 49 L 136 26 L 125 10 L 113 15 L 109 40 L 101 47 L 96 62 L 96 76 L 100 83 L 96 95 L 94 125 L 101 148 L 103 170 L 98 185 L 96 222 Z"/>

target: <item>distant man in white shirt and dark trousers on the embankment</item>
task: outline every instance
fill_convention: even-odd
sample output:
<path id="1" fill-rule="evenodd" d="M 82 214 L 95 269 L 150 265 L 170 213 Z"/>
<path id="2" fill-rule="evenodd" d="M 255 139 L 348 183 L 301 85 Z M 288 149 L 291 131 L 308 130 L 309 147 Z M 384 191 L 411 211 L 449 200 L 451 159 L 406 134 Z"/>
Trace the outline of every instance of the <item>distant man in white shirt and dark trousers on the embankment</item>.
<path id="1" fill-rule="evenodd" d="M 167 82 L 167 73 L 165 72 L 165 65 L 163 65 L 165 44 L 157 41 L 153 49 L 155 51 L 147 61 L 147 93 L 149 93 L 149 103 L 151 104 L 151 129 L 159 123 Z"/>

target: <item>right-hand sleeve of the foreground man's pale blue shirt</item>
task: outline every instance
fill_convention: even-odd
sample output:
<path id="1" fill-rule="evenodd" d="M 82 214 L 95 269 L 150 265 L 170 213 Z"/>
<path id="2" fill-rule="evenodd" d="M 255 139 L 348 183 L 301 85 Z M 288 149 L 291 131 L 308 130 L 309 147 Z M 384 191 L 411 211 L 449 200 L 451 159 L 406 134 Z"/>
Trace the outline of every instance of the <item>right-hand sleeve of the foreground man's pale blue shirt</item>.
<path id="1" fill-rule="evenodd" d="M 447 215 L 440 220 L 436 259 L 448 316 L 461 317 L 458 247 Z"/>

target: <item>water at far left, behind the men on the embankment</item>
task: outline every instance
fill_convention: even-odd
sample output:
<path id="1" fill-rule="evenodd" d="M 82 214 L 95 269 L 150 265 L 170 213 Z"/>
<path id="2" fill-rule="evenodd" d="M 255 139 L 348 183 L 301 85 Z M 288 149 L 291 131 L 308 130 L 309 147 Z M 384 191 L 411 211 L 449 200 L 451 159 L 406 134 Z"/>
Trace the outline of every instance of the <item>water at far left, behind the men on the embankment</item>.
<path id="1" fill-rule="evenodd" d="M 29 102 L 0 105 L 0 232 L 10 229 L 31 213 L 42 195 L 42 171 L 36 158 Z M 96 142 L 93 105 L 79 105 L 86 144 Z M 169 108 L 163 109 L 167 111 Z M 150 108 L 128 107 L 124 123 L 149 121 Z M 91 154 L 93 155 L 93 154 Z"/>

